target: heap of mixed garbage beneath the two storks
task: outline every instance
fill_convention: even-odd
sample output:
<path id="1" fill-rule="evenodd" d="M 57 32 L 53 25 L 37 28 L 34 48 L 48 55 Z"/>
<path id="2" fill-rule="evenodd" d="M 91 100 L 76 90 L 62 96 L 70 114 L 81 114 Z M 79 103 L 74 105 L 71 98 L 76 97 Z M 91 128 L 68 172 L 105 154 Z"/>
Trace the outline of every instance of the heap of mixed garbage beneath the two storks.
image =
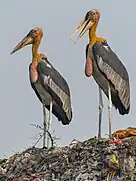
<path id="1" fill-rule="evenodd" d="M 66 147 L 33 147 L 0 160 L 0 181 L 83 180 L 136 180 L 136 137 L 115 143 L 73 140 Z"/>

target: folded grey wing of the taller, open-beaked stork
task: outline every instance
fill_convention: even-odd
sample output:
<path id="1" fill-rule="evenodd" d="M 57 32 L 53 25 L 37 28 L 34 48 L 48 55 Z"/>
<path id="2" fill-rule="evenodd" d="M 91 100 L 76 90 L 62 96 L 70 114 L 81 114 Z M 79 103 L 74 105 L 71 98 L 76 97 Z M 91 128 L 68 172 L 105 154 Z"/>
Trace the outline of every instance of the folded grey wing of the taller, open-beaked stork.
<path id="1" fill-rule="evenodd" d="M 129 75 L 125 66 L 107 43 L 95 43 L 93 46 L 93 54 L 99 69 L 106 76 L 106 78 L 111 81 L 115 87 L 115 90 L 117 90 L 123 106 L 126 110 L 129 109 Z"/>

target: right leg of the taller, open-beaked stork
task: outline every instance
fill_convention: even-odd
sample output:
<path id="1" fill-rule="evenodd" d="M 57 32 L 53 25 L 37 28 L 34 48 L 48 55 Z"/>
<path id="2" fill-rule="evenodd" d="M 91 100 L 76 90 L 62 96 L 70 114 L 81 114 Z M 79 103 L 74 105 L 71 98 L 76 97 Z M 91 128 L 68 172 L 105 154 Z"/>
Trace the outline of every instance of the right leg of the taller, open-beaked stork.
<path id="1" fill-rule="evenodd" d="M 109 114 L 109 138 L 111 138 L 111 117 L 112 117 L 112 100 L 111 100 L 111 88 L 110 84 L 108 84 L 108 114 Z"/>

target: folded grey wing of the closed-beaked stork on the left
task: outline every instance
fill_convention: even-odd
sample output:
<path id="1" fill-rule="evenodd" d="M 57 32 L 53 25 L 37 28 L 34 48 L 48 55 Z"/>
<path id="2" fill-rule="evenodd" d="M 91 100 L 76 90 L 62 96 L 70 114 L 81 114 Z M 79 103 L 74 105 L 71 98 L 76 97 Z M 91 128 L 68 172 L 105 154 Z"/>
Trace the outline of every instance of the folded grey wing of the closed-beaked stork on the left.
<path id="1" fill-rule="evenodd" d="M 41 60 L 38 64 L 41 82 L 50 92 L 57 104 L 62 107 L 69 121 L 72 119 L 71 95 L 66 80 L 52 66 L 48 60 Z"/>

